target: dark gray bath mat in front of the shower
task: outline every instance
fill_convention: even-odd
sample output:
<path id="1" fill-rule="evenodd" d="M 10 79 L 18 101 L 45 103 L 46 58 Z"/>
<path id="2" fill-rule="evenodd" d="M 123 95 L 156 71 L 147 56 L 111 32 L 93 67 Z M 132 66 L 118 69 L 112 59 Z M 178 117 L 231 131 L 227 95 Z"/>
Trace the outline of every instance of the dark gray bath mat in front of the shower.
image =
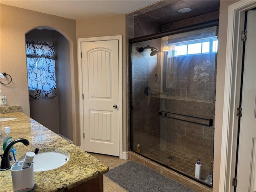
<path id="1" fill-rule="evenodd" d="M 128 192 L 193 192 L 190 188 L 133 161 L 109 170 L 105 176 Z"/>

